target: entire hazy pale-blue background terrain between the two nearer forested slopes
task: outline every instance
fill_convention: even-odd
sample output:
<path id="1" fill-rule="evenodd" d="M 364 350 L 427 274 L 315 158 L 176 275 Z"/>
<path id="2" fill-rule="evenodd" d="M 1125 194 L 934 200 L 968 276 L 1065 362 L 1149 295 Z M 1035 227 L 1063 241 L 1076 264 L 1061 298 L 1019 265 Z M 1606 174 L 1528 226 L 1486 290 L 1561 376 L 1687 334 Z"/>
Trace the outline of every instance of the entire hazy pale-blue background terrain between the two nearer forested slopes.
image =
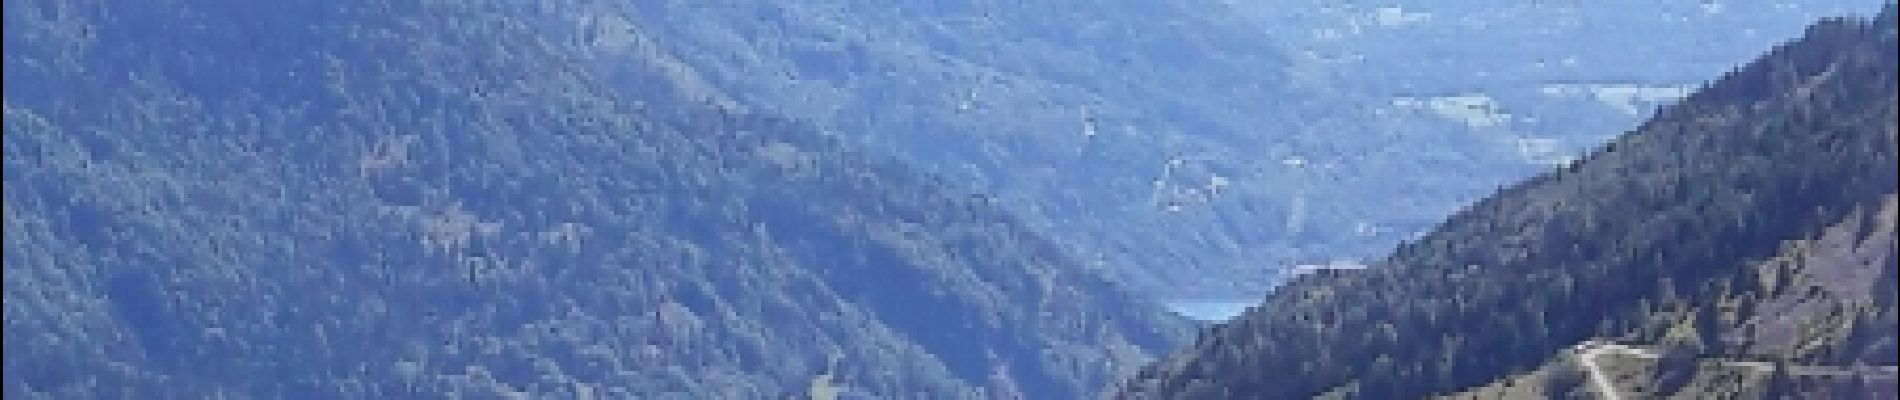
<path id="1" fill-rule="evenodd" d="M 1153 296 L 1231 298 L 1387 252 L 1809 15 L 1873 8 L 1700 4 L 674 0 L 578 25 L 695 99 L 998 193 Z"/>

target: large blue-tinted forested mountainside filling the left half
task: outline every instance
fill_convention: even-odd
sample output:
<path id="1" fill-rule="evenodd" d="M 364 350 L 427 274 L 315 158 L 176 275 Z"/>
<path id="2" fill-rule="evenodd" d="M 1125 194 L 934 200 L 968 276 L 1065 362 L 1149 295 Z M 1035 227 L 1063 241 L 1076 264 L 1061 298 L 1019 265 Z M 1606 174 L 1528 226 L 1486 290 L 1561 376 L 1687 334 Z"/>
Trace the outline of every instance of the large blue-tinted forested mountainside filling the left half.
<path id="1" fill-rule="evenodd" d="M 1184 337 L 600 4 L 8 0 L 6 398 L 1077 398 Z"/>

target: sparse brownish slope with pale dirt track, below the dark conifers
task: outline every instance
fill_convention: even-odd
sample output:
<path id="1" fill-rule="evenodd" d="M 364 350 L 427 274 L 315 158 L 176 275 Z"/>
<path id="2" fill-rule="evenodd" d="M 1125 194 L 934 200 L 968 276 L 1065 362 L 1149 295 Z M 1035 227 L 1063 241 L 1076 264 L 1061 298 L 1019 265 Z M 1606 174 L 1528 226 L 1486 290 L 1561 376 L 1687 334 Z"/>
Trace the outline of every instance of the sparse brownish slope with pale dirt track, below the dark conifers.
<path id="1" fill-rule="evenodd" d="M 1843 398 L 1900 394 L 1894 226 L 1900 197 L 1784 241 L 1708 296 L 1662 296 L 1634 336 L 1446 398 Z"/>

